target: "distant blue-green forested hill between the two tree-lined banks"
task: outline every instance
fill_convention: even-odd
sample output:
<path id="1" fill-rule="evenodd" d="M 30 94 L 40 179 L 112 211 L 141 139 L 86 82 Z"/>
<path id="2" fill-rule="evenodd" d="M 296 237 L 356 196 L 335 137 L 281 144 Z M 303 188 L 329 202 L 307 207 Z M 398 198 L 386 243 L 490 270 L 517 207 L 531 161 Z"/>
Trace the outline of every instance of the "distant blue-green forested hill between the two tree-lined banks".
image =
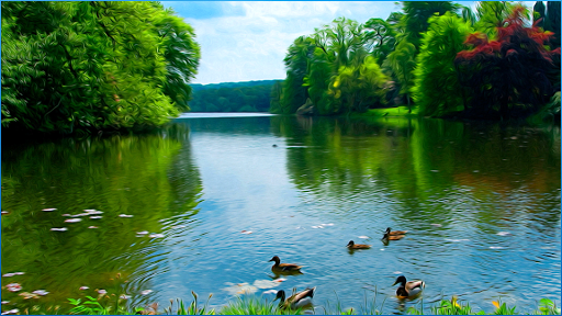
<path id="1" fill-rule="evenodd" d="M 271 89 L 282 80 L 190 84 L 191 112 L 268 112 Z"/>

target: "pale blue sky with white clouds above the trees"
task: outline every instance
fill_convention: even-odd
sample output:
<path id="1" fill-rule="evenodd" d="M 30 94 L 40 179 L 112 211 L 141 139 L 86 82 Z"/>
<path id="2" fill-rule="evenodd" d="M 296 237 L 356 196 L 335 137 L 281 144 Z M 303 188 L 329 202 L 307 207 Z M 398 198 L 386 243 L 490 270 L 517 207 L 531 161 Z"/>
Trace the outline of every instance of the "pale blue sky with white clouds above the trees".
<path id="1" fill-rule="evenodd" d="M 345 16 L 364 23 L 400 11 L 395 1 L 165 1 L 201 45 L 192 83 L 284 79 L 283 58 L 301 35 Z M 459 2 L 473 5 L 473 2 Z"/>

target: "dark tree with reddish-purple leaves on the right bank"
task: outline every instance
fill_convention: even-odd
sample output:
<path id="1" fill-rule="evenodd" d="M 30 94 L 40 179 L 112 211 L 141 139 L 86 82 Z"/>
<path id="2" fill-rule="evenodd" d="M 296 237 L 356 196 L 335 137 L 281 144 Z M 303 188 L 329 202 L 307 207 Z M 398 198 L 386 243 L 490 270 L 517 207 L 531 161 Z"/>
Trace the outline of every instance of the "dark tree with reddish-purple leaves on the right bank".
<path id="1" fill-rule="evenodd" d="M 542 32 L 538 21 L 525 27 L 524 10 L 520 5 L 514 9 L 504 26 L 497 27 L 496 41 L 476 32 L 465 41 L 473 48 L 457 55 L 461 84 L 472 92 L 469 116 L 525 117 L 560 90 L 560 82 L 552 82 L 550 76 L 553 70 L 560 74 L 560 48 L 544 46 L 553 33 Z"/>

